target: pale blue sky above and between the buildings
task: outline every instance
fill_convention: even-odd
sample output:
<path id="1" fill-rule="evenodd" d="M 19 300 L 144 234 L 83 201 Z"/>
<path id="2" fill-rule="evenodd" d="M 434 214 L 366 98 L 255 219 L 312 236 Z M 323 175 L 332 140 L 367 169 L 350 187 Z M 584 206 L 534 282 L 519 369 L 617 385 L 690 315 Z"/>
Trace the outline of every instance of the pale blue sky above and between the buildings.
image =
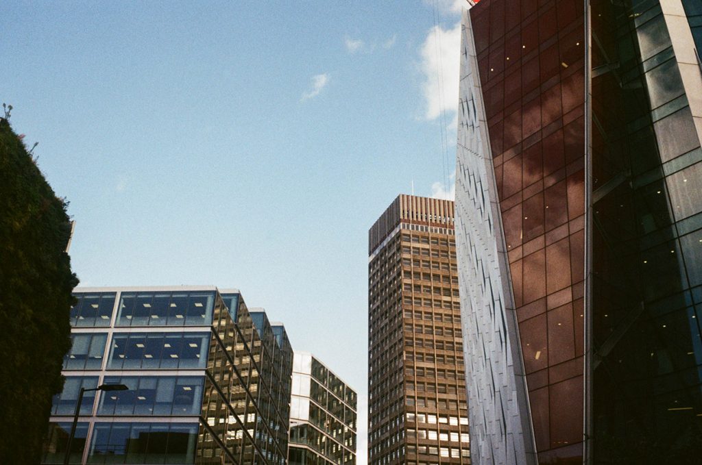
<path id="1" fill-rule="evenodd" d="M 81 285 L 239 288 L 364 410 L 367 231 L 455 163 L 460 18 L 436 8 L 1 2 L 0 100 L 70 202 Z"/>

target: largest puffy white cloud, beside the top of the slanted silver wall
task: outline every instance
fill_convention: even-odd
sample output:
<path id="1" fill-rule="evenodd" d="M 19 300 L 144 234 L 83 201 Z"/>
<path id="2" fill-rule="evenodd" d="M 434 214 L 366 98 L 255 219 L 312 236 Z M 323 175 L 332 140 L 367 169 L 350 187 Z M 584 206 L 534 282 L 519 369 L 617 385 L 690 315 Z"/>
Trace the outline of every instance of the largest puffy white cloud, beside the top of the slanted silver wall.
<path id="1" fill-rule="evenodd" d="M 461 22 L 450 29 L 432 27 L 420 49 L 425 118 L 437 119 L 443 110 L 446 117 L 452 118 L 451 128 L 456 127 L 460 54 Z"/>

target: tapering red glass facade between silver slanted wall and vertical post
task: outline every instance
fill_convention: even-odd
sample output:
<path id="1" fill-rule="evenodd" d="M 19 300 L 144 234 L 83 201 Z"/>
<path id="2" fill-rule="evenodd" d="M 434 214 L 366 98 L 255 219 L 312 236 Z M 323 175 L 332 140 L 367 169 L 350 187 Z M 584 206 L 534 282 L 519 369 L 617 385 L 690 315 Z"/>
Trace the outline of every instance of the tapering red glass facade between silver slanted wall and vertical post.
<path id="1" fill-rule="evenodd" d="M 469 13 L 538 461 L 581 463 L 584 4 L 482 0 Z"/>

